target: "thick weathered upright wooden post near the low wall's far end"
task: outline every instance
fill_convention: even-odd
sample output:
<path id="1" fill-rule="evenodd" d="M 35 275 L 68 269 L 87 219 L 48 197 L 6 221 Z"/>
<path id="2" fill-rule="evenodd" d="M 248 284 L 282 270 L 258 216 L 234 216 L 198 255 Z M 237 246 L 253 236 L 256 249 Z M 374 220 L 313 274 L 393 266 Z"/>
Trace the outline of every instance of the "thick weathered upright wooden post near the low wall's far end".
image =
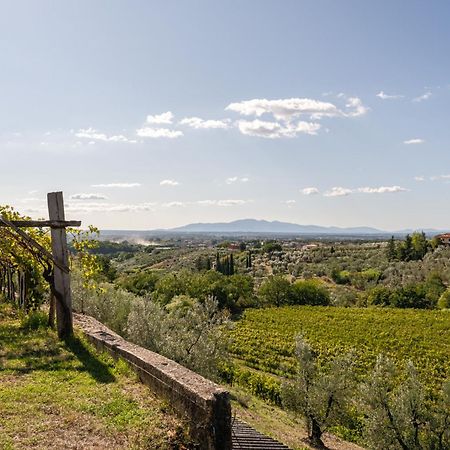
<path id="1" fill-rule="evenodd" d="M 47 194 L 50 221 L 64 221 L 64 200 L 62 192 Z M 51 228 L 53 258 L 62 267 L 69 266 L 67 238 L 65 228 Z M 58 336 L 66 338 L 73 333 L 72 293 L 70 291 L 70 273 L 53 265 L 53 278 L 56 296 L 56 322 Z"/>

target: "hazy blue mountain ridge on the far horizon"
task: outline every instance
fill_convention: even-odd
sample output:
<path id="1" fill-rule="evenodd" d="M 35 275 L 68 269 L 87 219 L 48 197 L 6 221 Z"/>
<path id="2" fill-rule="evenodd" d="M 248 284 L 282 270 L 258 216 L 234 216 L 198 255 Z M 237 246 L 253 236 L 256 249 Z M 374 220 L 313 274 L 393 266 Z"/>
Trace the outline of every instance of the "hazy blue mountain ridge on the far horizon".
<path id="1" fill-rule="evenodd" d="M 233 222 L 192 223 L 168 231 L 181 233 L 288 233 L 288 234 L 386 234 L 388 232 L 371 227 L 322 227 L 298 225 L 278 220 L 241 219 Z"/>

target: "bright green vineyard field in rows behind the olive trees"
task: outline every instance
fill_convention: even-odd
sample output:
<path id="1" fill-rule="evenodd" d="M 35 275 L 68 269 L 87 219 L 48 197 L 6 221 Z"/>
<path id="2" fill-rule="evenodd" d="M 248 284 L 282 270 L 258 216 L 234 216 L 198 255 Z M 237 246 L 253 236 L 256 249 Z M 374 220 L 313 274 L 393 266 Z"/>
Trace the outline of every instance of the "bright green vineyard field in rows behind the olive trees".
<path id="1" fill-rule="evenodd" d="M 399 368 L 412 361 L 430 391 L 450 377 L 449 311 L 320 306 L 247 310 L 231 331 L 237 364 L 225 376 L 278 403 L 279 377 L 292 376 L 296 370 L 298 334 L 324 364 L 354 351 L 361 377 L 380 353 Z"/>

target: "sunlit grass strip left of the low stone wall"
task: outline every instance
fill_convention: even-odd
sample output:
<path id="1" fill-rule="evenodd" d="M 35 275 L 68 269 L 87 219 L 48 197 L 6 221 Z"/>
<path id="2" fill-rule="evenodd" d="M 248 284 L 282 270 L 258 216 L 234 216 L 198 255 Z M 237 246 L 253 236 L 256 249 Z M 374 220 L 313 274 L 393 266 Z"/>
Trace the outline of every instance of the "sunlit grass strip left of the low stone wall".
<path id="1" fill-rule="evenodd" d="M 184 424 L 126 363 L 41 322 L 0 305 L 0 449 L 186 448 Z"/>

